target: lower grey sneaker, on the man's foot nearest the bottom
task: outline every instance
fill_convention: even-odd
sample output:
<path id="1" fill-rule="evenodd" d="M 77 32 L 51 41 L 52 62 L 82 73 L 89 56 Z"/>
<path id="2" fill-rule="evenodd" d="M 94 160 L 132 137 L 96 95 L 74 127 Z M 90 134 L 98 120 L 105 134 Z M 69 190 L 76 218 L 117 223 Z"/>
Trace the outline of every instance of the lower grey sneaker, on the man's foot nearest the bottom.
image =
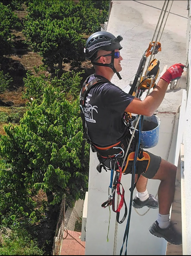
<path id="1" fill-rule="evenodd" d="M 170 223 L 167 228 L 160 228 L 156 220 L 149 228 L 149 231 L 155 237 L 162 237 L 172 244 L 182 244 L 182 235 L 178 233 Z"/>

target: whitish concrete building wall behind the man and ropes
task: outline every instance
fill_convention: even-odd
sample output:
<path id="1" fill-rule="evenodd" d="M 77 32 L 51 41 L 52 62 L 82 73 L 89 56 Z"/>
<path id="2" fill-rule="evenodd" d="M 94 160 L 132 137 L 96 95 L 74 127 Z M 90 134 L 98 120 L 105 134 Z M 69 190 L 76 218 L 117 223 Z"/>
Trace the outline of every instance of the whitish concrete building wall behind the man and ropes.
<path id="1" fill-rule="evenodd" d="M 121 34 L 124 40 L 121 42 L 123 57 L 121 71 L 122 80 L 115 76 L 112 82 L 129 92 L 129 82 L 133 80 L 143 52 L 153 36 L 156 23 L 160 14 L 163 1 L 113 1 L 108 22 L 107 31 Z M 186 63 L 186 28 L 187 28 L 187 1 L 174 1 L 172 13 L 164 30 L 161 40 L 162 52 L 157 54 L 160 60 L 161 70 L 165 65 L 174 63 Z M 158 145 L 150 149 L 150 152 L 160 155 L 169 161 L 175 161 L 175 142 L 172 129 L 173 120 L 178 106 L 181 104 L 182 90 L 169 90 L 165 96 L 157 115 L 161 119 Z M 177 134 L 177 124 L 174 129 Z M 171 151 L 170 150 L 171 146 Z M 169 156 L 169 157 L 168 157 Z M 113 255 L 113 242 L 115 233 L 115 217 L 111 213 L 109 242 L 107 242 L 109 209 L 101 208 L 101 204 L 108 198 L 108 186 L 110 173 L 102 171 L 98 173 L 96 165 L 98 160 L 96 153 L 90 153 L 90 175 L 87 207 L 87 231 L 86 231 L 86 255 Z M 122 176 L 122 184 L 126 191 L 125 198 L 129 205 L 129 188 L 131 176 Z M 147 189 L 154 196 L 158 191 L 159 181 L 149 180 Z M 134 196 L 135 196 L 134 192 Z M 129 207 L 128 207 L 129 208 Z M 144 214 L 147 209 L 140 209 Z M 121 216 L 123 211 L 121 211 Z M 150 210 L 143 217 L 132 209 L 130 234 L 128 239 L 128 255 L 165 255 L 166 241 L 150 234 L 148 228 L 156 220 L 158 210 Z M 118 225 L 117 255 L 119 255 L 124 236 L 126 221 Z"/>

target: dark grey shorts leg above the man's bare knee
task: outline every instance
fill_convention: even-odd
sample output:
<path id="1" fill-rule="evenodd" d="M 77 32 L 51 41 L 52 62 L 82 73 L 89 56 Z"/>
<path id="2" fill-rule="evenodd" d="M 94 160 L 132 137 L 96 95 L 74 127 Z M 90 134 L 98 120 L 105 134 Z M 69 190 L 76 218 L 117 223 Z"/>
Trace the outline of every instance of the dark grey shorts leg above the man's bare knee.
<path id="1" fill-rule="evenodd" d="M 145 150 L 143 150 L 143 151 L 145 151 Z M 143 167 L 143 173 L 141 173 L 141 175 L 146 177 L 147 179 L 152 179 L 160 167 L 161 157 L 155 156 L 148 151 L 145 151 L 145 152 L 147 152 L 150 156 L 150 164 L 149 164 L 149 167 L 147 168 L 147 171 L 146 171 L 146 168 L 144 169 L 144 167 Z"/>

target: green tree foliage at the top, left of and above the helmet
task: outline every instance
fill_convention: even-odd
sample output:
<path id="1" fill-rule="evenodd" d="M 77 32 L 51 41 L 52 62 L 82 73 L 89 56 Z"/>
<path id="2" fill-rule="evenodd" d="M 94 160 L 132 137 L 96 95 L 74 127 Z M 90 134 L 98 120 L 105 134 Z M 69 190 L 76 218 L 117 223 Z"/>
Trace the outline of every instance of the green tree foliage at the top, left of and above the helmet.
<path id="1" fill-rule="evenodd" d="M 107 20 L 108 10 L 104 9 L 107 4 L 97 2 L 34 0 L 29 3 L 24 22 L 27 42 L 40 53 L 45 64 L 58 65 L 59 75 L 63 62 L 84 60 L 82 34 L 99 31 L 100 24 Z M 104 8 L 100 11 L 97 6 Z"/>

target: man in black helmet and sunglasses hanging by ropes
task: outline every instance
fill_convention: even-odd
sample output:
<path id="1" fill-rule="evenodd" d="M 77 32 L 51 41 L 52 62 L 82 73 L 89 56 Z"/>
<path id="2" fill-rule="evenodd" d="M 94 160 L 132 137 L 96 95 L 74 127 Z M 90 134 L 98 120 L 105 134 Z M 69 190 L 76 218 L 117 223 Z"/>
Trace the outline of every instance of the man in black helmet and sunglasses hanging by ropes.
<path id="1" fill-rule="evenodd" d="M 171 66 L 160 78 L 153 92 L 144 100 L 140 100 L 111 83 L 113 75 L 117 73 L 120 77 L 118 72 L 122 70 L 123 58 L 119 52 L 122 49 L 121 41 L 121 36 L 116 38 L 109 32 L 100 31 L 87 39 L 84 48 L 86 58 L 91 60 L 96 71 L 88 78 L 87 84 L 94 82 L 95 79 L 103 80 L 102 83 L 90 89 L 84 99 L 83 108 L 88 138 L 98 152 L 104 149 L 112 150 L 113 146 L 119 145 L 121 141 L 124 142 L 124 138 L 127 137 L 127 126 L 123 121 L 124 112 L 152 116 L 160 106 L 168 84 L 171 80 L 181 77 L 184 68 L 182 64 Z M 181 235 L 175 231 L 169 218 L 177 168 L 161 157 L 147 153 L 150 164 L 149 166 L 143 164 L 143 172 L 136 184 L 137 195 L 133 200 L 133 206 L 135 208 L 143 206 L 158 208 L 159 206 L 158 219 L 150 226 L 150 233 L 163 237 L 170 243 L 181 244 Z M 112 154 L 110 152 L 110 155 Z M 98 154 L 98 159 L 108 167 L 104 158 L 106 155 Z M 161 180 L 158 188 L 158 202 L 147 192 L 147 179 Z"/>

